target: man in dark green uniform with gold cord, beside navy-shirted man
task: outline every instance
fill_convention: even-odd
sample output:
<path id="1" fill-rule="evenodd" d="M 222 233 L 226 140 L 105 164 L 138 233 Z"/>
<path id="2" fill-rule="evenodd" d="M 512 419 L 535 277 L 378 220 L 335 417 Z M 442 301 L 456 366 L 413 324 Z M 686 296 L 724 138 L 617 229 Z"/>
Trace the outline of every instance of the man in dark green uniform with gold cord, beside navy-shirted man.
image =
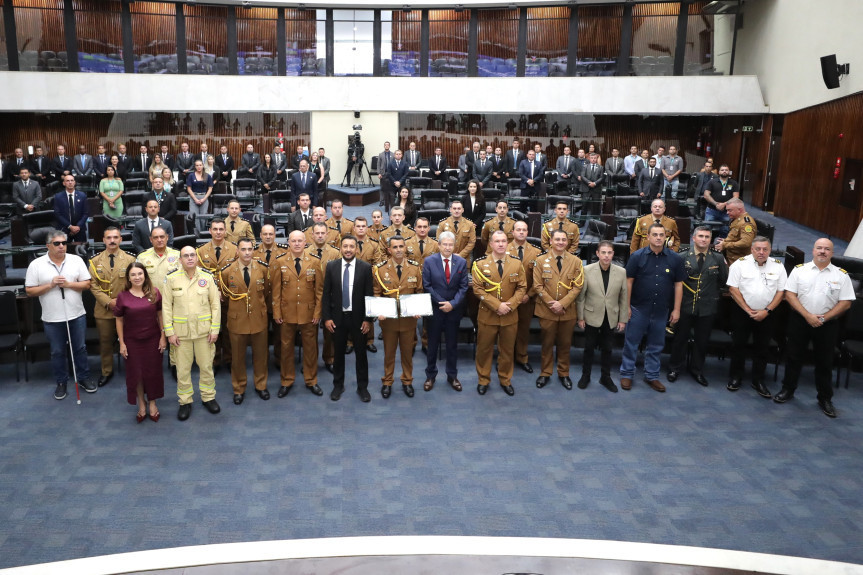
<path id="1" fill-rule="evenodd" d="M 655 200 L 654 203 L 658 201 Z M 710 249 L 710 228 L 699 226 L 692 234 L 693 249 L 681 254 L 686 268 L 683 280 L 683 299 L 680 304 L 680 319 L 674 328 L 671 344 L 671 359 L 668 362 L 668 381 L 677 380 L 686 364 L 686 344 L 690 331 L 694 332 L 695 347 L 692 350 L 690 373 L 692 378 L 707 386 L 704 377 L 704 358 L 710 331 L 716 318 L 720 290 L 728 280 L 728 266 L 722 254 Z M 672 248 L 674 249 L 674 248 Z"/>

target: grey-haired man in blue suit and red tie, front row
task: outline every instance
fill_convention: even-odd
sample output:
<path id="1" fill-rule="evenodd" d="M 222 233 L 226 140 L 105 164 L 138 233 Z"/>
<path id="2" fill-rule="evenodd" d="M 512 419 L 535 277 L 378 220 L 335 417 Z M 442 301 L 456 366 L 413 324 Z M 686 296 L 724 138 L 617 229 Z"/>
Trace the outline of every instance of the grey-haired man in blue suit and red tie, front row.
<path id="1" fill-rule="evenodd" d="M 456 391 L 462 386 L 456 367 L 458 325 L 464 315 L 468 289 L 467 262 L 457 254 L 455 235 L 443 232 L 438 237 L 440 253 L 428 256 L 423 263 L 423 290 L 431 294 L 434 314 L 429 321 L 426 352 L 426 381 L 423 389 L 431 391 L 437 377 L 437 351 L 441 333 L 446 333 L 446 379 Z"/>

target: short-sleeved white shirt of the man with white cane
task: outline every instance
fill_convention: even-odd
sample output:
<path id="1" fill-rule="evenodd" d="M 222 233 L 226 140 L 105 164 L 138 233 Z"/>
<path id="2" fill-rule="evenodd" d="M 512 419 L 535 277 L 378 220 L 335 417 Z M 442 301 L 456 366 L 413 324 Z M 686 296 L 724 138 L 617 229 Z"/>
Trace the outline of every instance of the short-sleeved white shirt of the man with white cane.
<path id="1" fill-rule="evenodd" d="M 37 287 L 51 283 L 51 280 L 59 275 L 65 277 L 67 282 L 90 279 L 90 271 L 79 256 L 66 254 L 66 259 L 58 266 L 46 254 L 33 260 L 27 268 L 24 285 Z M 58 287 L 51 288 L 39 296 L 39 303 L 42 304 L 42 321 L 66 321 L 67 319 L 76 319 L 86 313 L 80 291 L 67 288 L 64 292 L 65 300 L 60 295 L 60 288 Z"/>

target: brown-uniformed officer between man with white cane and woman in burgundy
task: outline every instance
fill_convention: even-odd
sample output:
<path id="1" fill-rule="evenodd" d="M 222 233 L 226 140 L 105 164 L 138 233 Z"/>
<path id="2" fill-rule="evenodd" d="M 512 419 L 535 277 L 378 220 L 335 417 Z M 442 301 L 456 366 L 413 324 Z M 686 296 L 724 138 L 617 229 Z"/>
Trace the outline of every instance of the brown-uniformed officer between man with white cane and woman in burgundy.
<path id="1" fill-rule="evenodd" d="M 114 344 L 117 341 L 114 306 L 117 294 L 126 288 L 126 268 L 135 262 L 134 256 L 120 249 L 120 230 L 116 227 L 105 228 L 102 241 L 105 242 L 105 251 L 90 259 L 90 291 L 96 298 L 93 316 L 99 331 L 99 354 L 102 357 L 99 387 L 107 385 L 114 377 Z"/>

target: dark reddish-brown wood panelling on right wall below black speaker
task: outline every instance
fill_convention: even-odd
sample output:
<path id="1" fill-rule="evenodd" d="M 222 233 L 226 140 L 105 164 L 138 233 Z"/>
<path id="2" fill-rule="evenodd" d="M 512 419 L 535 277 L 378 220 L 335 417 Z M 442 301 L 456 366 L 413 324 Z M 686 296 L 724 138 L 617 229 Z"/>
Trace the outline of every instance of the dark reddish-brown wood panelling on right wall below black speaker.
<path id="1" fill-rule="evenodd" d="M 850 240 L 860 223 L 857 209 L 839 205 L 847 158 L 863 159 L 863 94 L 855 94 L 785 116 L 776 177 L 774 210 L 826 234 Z M 839 134 L 844 134 L 843 138 Z M 842 158 L 840 179 L 833 179 Z M 858 186 L 860 183 L 858 182 Z"/>

